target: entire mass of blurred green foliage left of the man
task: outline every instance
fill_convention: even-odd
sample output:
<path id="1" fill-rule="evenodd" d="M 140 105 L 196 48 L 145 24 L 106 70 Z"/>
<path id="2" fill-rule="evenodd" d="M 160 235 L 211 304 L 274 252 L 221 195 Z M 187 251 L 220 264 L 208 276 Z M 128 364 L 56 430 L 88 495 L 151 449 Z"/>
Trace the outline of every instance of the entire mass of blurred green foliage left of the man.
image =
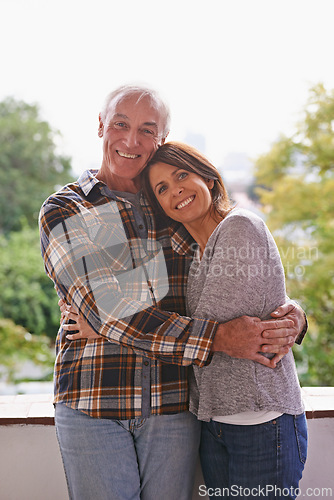
<path id="1" fill-rule="evenodd" d="M 43 201 L 73 180 L 69 158 L 57 152 L 59 137 L 37 105 L 0 102 L 0 376 L 10 381 L 27 360 L 52 372 L 49 344 L 60 312 L 37 219 Z"/>

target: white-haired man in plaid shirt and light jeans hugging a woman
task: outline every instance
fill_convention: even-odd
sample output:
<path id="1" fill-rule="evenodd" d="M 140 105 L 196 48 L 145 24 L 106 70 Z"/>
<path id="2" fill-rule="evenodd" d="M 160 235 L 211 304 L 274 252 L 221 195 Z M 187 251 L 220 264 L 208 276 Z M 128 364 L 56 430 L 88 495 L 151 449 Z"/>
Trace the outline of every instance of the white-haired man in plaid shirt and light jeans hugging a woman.
<path id="1" fill-rule="evenodd" d="M 168 132 L 156 92 L 116 89 L 99 116 L 100 169 L 41 209 L 46 272 L 97 334 L 69 340 L 76 325 L 63 325 L 57 336 L 55 421 L 71 499 L 191 498 L 199 423 L 187 411 L 188 367 L 215 350 L 272 366 L 259 351 L 282 355 L 305 329 L 291 304 L 271 322 L 186 316 L 192 241 L 140 193 Z"/>

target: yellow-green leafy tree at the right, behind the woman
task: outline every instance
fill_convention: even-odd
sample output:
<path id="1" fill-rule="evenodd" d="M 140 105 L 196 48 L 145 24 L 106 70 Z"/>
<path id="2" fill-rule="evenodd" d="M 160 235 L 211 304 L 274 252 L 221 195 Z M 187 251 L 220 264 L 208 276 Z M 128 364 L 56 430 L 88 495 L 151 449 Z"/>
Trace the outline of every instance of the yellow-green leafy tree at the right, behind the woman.
<path id="1" fill-rule="evenodd" d="M 267 223 L 287 289 L 310 328 L 295 357 L 304 385 L 334 385 L 334 90 L 310 90 L 303 118 L 256 161 Z"/>

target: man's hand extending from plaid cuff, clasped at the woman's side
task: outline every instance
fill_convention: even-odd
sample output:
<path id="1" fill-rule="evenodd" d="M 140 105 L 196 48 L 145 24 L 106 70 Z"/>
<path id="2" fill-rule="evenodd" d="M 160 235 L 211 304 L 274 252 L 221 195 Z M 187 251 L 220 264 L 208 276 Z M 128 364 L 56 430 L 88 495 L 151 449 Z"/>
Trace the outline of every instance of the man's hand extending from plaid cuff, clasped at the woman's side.
<path id="1" fill-rule="evenodd" d="M 280 312 L 275 316 L 278 317 L 278 314 Z M 275 368 L 294 340 L 295 323 L 292 319 L 279 317 L 276 320 L 261 321 L 259 318 L 241 316 L 218 326 L 212 351 L 223 351 L 233 358 L 251 359 Z M 261 352 L 277 353 L 277 356 L 268 359 Z"/>

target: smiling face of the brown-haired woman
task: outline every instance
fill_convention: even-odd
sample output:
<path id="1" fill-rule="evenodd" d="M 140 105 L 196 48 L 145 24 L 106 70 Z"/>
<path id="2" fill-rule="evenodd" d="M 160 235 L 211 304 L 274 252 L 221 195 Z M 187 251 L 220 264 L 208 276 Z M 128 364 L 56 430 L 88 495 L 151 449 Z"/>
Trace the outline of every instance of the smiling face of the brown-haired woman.
<path id="1" fill-rule="evenodd" d="M 211 213 L 212 179 L 156 163 L 150 167 L 149 180 L 163 211 L 172 219 L 183 224 L 201 222 Z"/>

